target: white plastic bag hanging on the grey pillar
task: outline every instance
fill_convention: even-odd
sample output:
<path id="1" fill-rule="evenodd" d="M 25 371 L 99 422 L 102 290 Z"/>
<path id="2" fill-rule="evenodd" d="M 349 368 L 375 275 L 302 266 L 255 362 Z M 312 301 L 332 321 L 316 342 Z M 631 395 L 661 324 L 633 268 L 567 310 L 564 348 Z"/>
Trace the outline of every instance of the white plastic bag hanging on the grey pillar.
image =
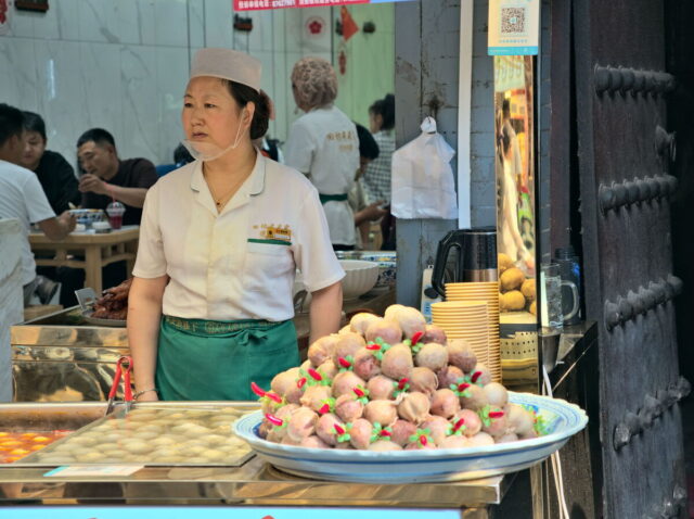
<path id="1" fill-rule="evenodd" d="M 458 218 L 458 197 L 450 165 L 455 151 L 426 117 L 422 135 L 393 154 L 391 213 L 397 218 Z"/>

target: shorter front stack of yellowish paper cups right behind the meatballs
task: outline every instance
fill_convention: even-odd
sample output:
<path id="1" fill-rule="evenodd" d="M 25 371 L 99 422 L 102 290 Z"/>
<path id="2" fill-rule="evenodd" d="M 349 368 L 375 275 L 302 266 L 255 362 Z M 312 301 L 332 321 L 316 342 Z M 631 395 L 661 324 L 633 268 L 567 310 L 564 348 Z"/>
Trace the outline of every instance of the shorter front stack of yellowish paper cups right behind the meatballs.
<path id="1" fill-rule="evenodd" d="M 461 301 L 434 303 L 432 305 L 432 322 L 446 331 L 448 340 L 463 339 L 475 352 L 478 363 L 485 364 L 491 371 L 494 355 L 491 352 L 489 338 L 489 315 L 484 301 Z"/>

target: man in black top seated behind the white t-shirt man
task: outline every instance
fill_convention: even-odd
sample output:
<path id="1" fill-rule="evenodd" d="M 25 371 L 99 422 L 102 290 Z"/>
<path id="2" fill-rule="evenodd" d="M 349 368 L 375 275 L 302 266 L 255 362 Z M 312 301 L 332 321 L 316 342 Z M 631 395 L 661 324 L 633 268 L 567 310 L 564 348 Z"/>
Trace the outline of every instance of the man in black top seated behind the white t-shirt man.
<path id="1" fill-rule="evenodd" d="M 81 194 L 75 170 L 63 155 L 46 149 L 46 124 L 34 112 L 24 112 L 24 141 L 21 165 L 36 173 L 55 214 L 69 210 L 70 203 L 79 205 Z"/>

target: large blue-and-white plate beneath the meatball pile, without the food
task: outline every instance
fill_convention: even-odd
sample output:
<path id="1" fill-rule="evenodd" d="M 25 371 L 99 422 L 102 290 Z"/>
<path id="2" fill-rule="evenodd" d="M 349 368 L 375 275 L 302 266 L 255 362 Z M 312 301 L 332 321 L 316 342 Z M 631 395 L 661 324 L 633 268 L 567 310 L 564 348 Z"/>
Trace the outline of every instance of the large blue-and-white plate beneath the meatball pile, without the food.
<path id="1" fill-rule="evenodd" d="M 268 442 L 257 434 L 261 412 L 241 418 L 234 431 L 262 459 L 295 476 L 360 483 L 413 483 L 472 480 L 526 469 L 558 451 L 588 423 L 581 408 L 563 400 L 514 392 L 509 392 L 509 398 L 534 408 L 543 418 L 548 434 L 481 447 L 384 453 Z"/>

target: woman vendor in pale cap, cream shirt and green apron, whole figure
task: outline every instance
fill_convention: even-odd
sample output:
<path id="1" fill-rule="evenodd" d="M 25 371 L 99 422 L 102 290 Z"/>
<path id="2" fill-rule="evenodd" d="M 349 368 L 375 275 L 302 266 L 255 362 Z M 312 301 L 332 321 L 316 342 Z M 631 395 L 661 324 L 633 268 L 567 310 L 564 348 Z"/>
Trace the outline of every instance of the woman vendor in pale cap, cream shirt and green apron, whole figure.
<path id="1" fill-rule="evenodd" d="M 195 162 L 152 187 L 128 307 L 138 401 L 252 400 L 299 364 L 295 271 L 313 341 L 337 331 L 344 271 L 318 191 L 252 144 L 268 128 L 260 63 L 202 49 L 183 100 Z"/>

